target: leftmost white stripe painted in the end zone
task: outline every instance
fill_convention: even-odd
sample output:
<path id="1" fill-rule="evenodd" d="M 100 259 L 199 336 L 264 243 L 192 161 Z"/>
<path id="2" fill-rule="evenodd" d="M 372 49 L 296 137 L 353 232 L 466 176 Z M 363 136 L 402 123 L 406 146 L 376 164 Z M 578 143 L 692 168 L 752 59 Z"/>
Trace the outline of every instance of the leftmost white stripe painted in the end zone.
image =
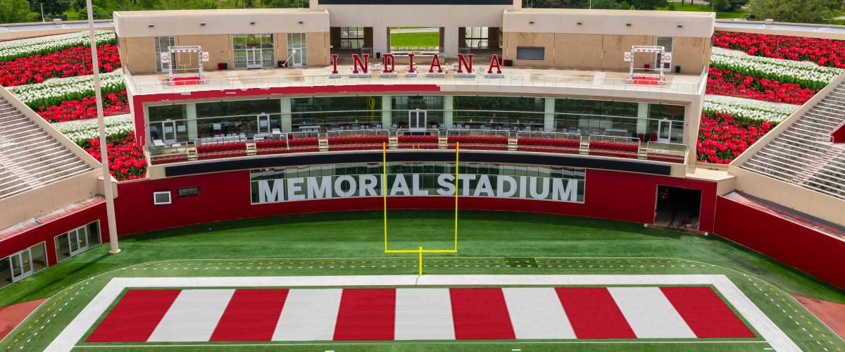
<path id="1" fill-rule="evenodd" d="M 183 290 L 147 341 L 208 341 L 235 290 Z"/>

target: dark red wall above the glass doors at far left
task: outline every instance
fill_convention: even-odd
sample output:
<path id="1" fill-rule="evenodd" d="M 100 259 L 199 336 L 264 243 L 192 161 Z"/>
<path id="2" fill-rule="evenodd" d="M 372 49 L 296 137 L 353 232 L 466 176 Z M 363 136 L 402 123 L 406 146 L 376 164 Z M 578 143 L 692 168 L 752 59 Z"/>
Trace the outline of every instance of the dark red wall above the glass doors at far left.
<path id="1" fill-rule="evenodd" d="M 53 238 L 96 220 L 100 220 L 101 241 L 108 241 L 106 203 L 99 203 L 0 241 L 0 258 L 8 257 L 14 252 L 22 251 L 44 241 L 46 242 L 47 262 L 53 265 L 56 263 L 56 243 Z"/>

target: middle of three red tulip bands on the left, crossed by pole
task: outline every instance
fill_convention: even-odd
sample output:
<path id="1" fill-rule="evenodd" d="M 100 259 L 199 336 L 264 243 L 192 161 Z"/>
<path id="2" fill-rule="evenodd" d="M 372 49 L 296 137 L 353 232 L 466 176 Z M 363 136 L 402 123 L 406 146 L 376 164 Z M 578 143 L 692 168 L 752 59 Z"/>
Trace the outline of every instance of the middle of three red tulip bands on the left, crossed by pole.
<path id="1" fill-rule="evenodd" d="M 96 97 L 90 96 L 80 100 L 64 100 L 57 106 L 38 106 L 35 112 L 49 122 L 65 122 L 85 120 L 97 117 Z M 129 101 L 126 90 L 103 95 L 103 116 L 126 114 L 129 112 Z"/>

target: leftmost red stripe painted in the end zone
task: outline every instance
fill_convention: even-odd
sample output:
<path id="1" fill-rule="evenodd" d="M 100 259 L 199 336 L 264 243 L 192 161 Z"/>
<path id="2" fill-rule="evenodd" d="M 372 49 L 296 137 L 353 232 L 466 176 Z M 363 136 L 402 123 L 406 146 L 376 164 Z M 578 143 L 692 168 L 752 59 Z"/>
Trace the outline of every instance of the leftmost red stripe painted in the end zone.
<path id="1" fill-rule="evenodd" d="M 128 290 L 86 342 L 144 342 L 182 290 Z"/>

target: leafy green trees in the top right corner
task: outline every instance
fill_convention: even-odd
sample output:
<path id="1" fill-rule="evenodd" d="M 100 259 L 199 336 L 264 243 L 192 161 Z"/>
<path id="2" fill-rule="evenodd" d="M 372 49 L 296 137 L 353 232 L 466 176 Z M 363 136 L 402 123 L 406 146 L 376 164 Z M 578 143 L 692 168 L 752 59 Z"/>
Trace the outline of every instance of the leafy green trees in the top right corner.
<path id="1" fill-rule="evenodd" d="M 817 24 L 833 19 L 838 5 L 837 0 L 751 0 L 749 9 L 757 19 Z"/>

